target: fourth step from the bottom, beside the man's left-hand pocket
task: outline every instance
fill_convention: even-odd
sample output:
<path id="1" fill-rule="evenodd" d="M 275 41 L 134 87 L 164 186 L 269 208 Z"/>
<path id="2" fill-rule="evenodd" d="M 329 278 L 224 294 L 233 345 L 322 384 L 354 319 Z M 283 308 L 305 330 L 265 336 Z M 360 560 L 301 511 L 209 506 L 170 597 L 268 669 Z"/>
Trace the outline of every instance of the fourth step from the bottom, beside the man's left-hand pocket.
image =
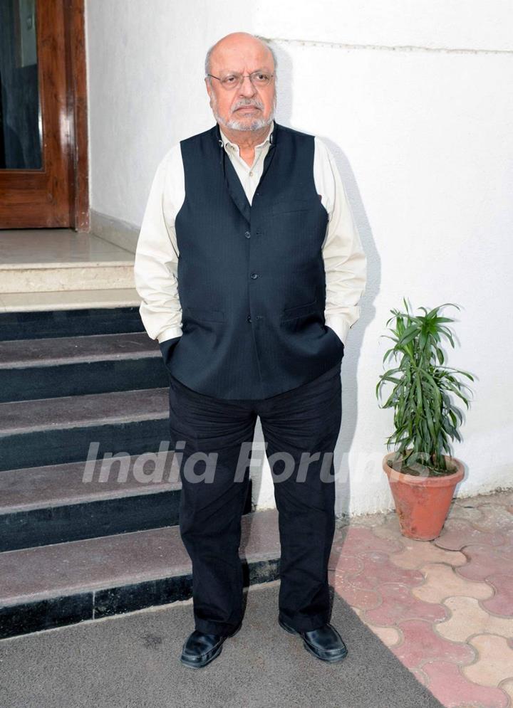
<path id="1" fill-rule="evenodd" d="M 0 342 L 0 402 L 159 388 L 169 377 L 145 332 Z"/>

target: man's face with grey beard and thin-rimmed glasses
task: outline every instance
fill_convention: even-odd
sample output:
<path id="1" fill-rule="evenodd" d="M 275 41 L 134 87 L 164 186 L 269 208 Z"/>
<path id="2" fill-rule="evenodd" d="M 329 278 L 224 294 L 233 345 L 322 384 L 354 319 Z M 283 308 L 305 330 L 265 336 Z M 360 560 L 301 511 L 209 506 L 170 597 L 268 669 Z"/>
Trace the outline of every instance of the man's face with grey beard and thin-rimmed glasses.
<path id="1" fill-rule="evenodd" d="M 210 107 L 223 127 L 259 130 L 274 118 L 276 83 L 273 77 L 268 85 L 255 87 L 248 74 L 257 70 L 274 73 L 273 59 L 269 50 L 260 43 L 242 41 L 238 45 L 220 45 L 212 52 L 209 73 L 224 78 L 229 73 L 237 72 L 245 77 L 242 85 L 231 90 L 223 88 L 219 80 L 207 77 L 205 82 Z"/>

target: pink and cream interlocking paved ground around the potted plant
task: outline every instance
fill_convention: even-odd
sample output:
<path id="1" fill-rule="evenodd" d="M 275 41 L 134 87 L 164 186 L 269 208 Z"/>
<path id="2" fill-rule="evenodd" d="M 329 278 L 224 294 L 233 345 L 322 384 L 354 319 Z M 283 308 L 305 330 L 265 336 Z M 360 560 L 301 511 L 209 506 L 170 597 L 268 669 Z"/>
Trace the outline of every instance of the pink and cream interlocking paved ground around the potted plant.
<path id="1" fill-rule="evenodd" d="M 447 708 L 513 708 L 513 490 L 454 500 L 434 541 L 404 537 L 395 512 L 355 517 L 336 530 L 330 569 Z"/>

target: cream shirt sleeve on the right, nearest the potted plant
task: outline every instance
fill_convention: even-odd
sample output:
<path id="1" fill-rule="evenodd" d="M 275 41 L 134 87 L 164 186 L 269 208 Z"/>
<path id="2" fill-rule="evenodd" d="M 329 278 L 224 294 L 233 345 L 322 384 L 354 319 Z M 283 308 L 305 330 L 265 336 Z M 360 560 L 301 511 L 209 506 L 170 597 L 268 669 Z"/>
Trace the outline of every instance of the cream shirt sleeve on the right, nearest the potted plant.
<path id="1" fill-rule="evenodd" d="M 346 344 L 349 329 L 360 317 L 358 303 L 366 288 L 367 259 L 335 158 L 318 137 L 315 138 L 314 176 L 329 219 L 323 242 L 324 317 L 326 325 Z"/>

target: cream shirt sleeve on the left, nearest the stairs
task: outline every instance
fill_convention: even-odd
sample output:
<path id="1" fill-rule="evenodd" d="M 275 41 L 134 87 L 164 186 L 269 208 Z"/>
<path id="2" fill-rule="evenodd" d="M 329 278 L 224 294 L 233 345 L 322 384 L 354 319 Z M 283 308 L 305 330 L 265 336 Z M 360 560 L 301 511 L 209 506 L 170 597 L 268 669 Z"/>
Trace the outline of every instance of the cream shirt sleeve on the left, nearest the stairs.
<path id="1" fill-rule="evenodd" d="M 139 312 L 148 336 L 158 342 L 182 335 L 175 216 L 184 199 L 182 152 L 177 144 L 157 167 L 135 250 Z"/>

